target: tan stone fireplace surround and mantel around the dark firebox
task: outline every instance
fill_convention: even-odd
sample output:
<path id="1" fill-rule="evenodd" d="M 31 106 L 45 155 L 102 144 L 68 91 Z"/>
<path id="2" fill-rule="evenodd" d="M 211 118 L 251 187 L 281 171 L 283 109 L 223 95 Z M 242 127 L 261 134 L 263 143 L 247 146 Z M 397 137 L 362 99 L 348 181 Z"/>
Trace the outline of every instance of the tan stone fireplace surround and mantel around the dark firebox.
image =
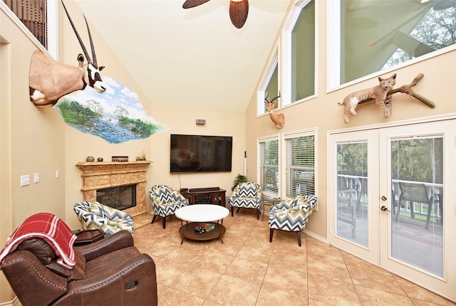
<path id="1" fill-rule="evenodd" d="M 126 213 L 138 216 L 147 213 L 146 171 L 151 162 L 78 162 L 83 179 L 83 201 L 96 201 L 97 190 L 115 186 L 136 185 L 136 206 L 125 209 Z"/>

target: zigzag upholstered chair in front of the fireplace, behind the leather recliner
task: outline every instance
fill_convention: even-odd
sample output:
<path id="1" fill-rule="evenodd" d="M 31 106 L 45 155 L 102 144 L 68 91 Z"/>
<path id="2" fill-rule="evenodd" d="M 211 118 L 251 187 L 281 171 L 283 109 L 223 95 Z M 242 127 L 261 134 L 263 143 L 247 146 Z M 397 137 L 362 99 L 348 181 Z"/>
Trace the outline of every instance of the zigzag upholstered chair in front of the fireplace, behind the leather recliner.
<path id="1" fill-rule="evenodd" d="M 84 230 L 102 229 L 105 237 L 118 231 L 128 231 L 133 235 L 133 216 L 130 213 L 113 209 L 112 207 L 95 202 L 78 202 L 74 204 L 81 226 Z"/>

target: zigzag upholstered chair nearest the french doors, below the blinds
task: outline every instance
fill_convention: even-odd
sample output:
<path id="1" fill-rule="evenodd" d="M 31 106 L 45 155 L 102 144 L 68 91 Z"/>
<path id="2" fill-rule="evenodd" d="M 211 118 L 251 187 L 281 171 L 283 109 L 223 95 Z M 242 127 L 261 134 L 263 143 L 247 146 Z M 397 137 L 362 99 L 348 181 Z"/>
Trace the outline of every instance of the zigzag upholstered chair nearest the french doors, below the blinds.
<path id="1" fill-rule="evenodd" d="M 271 206 L 269 211 L 269 242 L 272 242 L 274 229 L 294 231 L 301 246 L 301 231 L 314 211 L 316 196 L 296 196 L 296 198 Z"/>

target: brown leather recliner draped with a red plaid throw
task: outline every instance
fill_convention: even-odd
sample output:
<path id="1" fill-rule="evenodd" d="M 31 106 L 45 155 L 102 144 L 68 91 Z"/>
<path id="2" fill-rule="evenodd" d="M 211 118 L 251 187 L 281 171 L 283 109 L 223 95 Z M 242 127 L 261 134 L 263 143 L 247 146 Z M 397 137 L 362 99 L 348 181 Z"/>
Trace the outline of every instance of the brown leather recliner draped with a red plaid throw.
<path id="1" fill-rule="evenodd" d="M 157 305 L 155 263 L 135 248 L 128 231 L 74 247 L 71 270 L 36 250 L 37 243 L 46 247 L 41 239 L 33 243 L 7 255 L 1 265 L 22 305 Z"/>

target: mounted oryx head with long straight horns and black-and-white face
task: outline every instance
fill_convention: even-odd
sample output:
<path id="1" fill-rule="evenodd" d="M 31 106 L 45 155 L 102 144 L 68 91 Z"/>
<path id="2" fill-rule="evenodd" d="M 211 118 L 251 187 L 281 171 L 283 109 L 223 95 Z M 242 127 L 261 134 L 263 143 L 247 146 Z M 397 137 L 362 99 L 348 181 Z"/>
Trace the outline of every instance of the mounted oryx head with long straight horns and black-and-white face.
<path id="1" fill-rule="evenodd" d="M 86 46 L 84 46 L 81 36 L 76 30 L 65 4 L 63 4 L 63 9 L 65 9 L 66 16 L 68 16 L 68 20 L 73 27 L 88 63 L 84 64 L 84 56 L 81 53 L 78 55 L 78 66 L 73 66 L 58 63 L 58 61 L 46 56 L 41 51 L 35 51 L 30 63 L 28 87 L 30 89 L 30 100 L 37 107 L 51 107 L 63 95 L 82 90 L 86 88 L 86 85 L 94 88 L 98 93 L 104 93 L 106 90 L 106 85 L 100 77 L 100 71 L 103 70 L 104 66 L 98 68 L 95 48 L 93 47 L 92 35 L 90 34 L 86 16 L 84 16 L 84 20 L 86 21 L 93 61 L 88 55 Z"/>

